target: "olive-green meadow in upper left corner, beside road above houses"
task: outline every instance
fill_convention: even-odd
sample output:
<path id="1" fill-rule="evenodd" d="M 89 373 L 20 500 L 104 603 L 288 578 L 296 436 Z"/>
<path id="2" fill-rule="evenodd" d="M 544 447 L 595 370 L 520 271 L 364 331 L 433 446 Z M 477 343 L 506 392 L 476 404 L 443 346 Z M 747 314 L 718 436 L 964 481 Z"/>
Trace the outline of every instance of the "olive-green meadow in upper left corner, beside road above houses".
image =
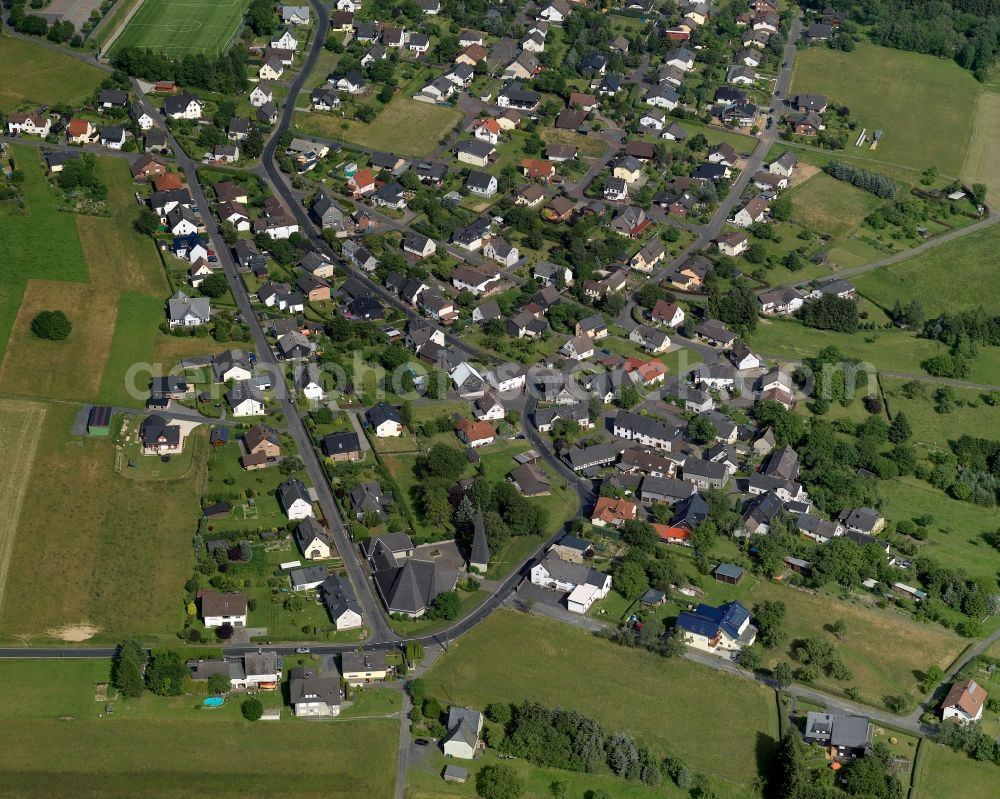
<path id="1" fill-rule="evenodd" d="M 0 35 L 0 111 L 16 111 L 22 104 L 78 105 L 103 79 L 97 67 L 58 49 Z"/>

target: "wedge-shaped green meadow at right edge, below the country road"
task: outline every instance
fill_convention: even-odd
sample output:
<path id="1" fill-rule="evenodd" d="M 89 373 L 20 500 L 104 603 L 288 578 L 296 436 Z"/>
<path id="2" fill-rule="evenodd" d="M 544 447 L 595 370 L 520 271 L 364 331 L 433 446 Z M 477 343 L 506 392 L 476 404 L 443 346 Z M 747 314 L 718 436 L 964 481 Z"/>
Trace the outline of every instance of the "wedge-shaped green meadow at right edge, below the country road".
<path id="1" fill-rule="evenodd" d="M 1000 304 L 996 284 L 996 254 L 1000 226 L 991 225 L 942 244 L 901 263 L 859 275 L 858 291 L 883 308 L 896 300 L 919 300 L 928 317 Z M 945 287 L 947 289 L 945 290 Z"/>

